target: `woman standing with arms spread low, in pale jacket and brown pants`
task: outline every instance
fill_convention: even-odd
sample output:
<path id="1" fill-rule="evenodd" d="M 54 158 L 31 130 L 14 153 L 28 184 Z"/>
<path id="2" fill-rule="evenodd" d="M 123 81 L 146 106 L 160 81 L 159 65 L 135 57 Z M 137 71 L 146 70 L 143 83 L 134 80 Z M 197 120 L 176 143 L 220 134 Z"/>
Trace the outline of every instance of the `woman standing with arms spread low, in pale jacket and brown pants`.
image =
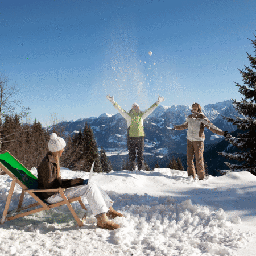
<path id="1" fill-rule="evenodd" d="M 196 156 L 196 169 L 199 180 L 203 180 L 205 177 L 204 171 L 204 128 L 208 128 L 215 134 L 225 136 L 228 135 L 228 131 L 222 131 L 213 125 L 207 117 L 202 113 L 202 108 L 198 103 L 192 105 L 192 114 L 186 118 L 186 121 L 182 125 L 174 125 L 172 130 L 184 130 L 187 131 L 187 171 L 188 176 L 196 176 L 196 170 L 194 166 L 194 155 Z"/>

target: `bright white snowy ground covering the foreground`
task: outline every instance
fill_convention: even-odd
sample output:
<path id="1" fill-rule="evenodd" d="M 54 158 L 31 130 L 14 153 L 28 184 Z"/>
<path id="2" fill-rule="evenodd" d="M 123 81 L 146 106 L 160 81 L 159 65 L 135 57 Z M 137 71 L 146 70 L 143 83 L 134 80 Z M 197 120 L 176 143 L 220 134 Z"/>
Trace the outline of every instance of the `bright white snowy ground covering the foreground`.
<path id="1" fill-rule="evenodd" d="M 88 174 L 62 169 L 61 176 Z M 84 198 L 88 217 L 82 228 L 66 206 L 0 224 L 0 255 L 256 255 L 256 177 L 249 172 L 199 181 L 164 168 L 94 174 L 92 180 L 125 216 L 115 218 L 121 228 L 97 228 Z M 0 176 L 0 217 L 10 185 L 9 176 Z M 11 209 L 20 192 L 17 186 Z M 32 201 L 24 197 L 24 203 Z M 82 217 L 79 203 L 72 205 Z"/>

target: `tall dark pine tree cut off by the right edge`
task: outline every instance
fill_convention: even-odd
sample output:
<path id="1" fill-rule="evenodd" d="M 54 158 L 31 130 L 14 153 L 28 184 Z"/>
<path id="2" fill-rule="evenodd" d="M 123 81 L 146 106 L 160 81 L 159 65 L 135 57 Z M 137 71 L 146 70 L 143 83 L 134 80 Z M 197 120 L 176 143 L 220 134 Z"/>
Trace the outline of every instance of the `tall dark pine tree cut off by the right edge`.
<path id="1" fill-rule="evenodd" d="M 251 40 L 251 42 L 256 49 L 256 39 L 254 41 Z M 256 53 L 256 51 L 254 52 Z M 229 143 L 236 146 L 240 152 L 233 154 L 218 152 L 218 154 L 225 156 L 225 158 L 229 160 L 242 162 L 241 164 L 226 162 L 225 164 L 229 167 L 230 171 L 249 171 L 251 174 L 256 175 L 256 57 L 249 55 L 249 53 L 247 53 L 247 57 L 250 61 L 250 67 L 245 66 L 245 70 L 240 70 L 244 85 L 236 83 L 243 98 L 241 98 L 241 101 L 233 100 L 234 108 L 239 114 L 243 115 L 244 118 L 224 117 L 228 122 L 232 122 L 233 125 L 236 125 L 238 129 L 245 130 L 243 134 L 238 133 L 238 138 L 232 137 L 231 135 L 227 137 Z M 226 170 L 217 171 L 221 172 L 221 174 L 227 172 Z"/>

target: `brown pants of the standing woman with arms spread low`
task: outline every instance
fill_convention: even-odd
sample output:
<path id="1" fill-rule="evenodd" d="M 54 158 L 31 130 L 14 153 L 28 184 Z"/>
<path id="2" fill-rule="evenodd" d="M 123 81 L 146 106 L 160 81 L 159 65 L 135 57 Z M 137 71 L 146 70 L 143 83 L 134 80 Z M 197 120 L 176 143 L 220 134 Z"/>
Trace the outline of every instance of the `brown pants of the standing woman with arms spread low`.
<path id="1" fill-rule="evenodd" d="M 199 180 L 203 180 L 204 173 L 204 142 L 203 141 L 189 141 L 187 140 L 187 164 L 188 176 L 196 177 L 196 170 Z M 194 166 L 194 155 L 196 155 L 196 170 Z"/>

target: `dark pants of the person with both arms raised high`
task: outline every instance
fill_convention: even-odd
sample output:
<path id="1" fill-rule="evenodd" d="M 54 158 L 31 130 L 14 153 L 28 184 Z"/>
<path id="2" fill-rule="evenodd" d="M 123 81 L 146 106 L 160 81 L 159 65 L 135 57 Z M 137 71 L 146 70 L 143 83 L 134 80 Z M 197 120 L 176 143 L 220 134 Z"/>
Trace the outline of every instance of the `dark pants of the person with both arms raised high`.
<path id="1" fill-rule="evenodd" d="M 136 156 L 138 163 L 138 170 L 145 170 L 144 164 L 144 137 L 129 137 L 127 141 L 128 155 L 129 155 L 129 170 L 133 171 L 136 167 Z"/>

